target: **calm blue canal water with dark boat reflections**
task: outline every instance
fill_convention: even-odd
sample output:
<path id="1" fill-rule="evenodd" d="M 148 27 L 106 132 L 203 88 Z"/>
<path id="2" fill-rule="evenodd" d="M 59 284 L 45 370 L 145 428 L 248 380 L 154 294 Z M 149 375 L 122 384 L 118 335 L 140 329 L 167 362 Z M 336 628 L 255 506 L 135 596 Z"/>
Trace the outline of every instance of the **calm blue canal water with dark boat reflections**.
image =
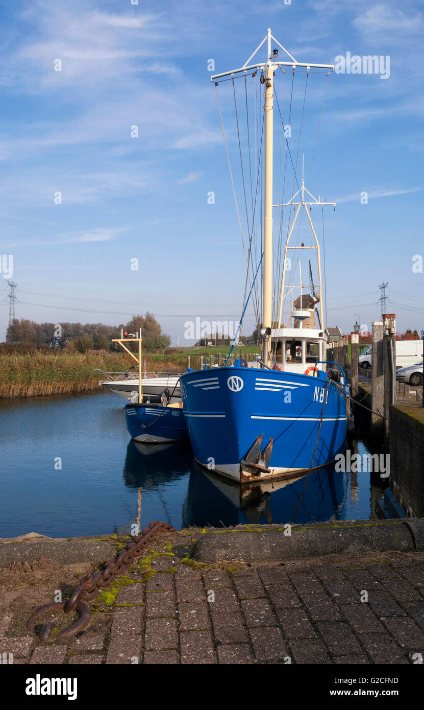
<path id="1" fill-rule="evenodd" d="M 199 469 L 189 444 L 130 441 L 124 404 L 107 392 L 0 400 L 0 537 L 375 516 L 385 485 L 369 471 L 333 466 L 241 493 Z M 355 452 L 367 453 L 364 442 Z"/>

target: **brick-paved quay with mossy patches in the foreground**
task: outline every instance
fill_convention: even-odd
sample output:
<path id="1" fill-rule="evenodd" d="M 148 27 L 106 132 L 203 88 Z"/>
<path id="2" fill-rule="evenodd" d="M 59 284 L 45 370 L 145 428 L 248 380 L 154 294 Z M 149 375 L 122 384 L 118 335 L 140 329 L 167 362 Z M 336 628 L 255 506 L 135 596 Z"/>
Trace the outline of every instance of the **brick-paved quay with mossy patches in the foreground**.
<path id="1" fill-rule="evenodd" d="M 157 540 L 116 586 L 89 602 L 91 626 L 70 640 L 42 644 L 26 631 L 26 618 L 52 601 L 55 589 L 69 596 L 93 565 L 43 569 L 42 561 L 40 569 L 4 569 L 0 654 L 13 653 L 13 663 L 71 665 L 396 665 L 424 656 L 422 553 L 187 564 L 201 534 L 182 530 Z M 364 592 L 368 601 L 361 601 Z M 70 621 L 60 613 L 56 623 Z"/>

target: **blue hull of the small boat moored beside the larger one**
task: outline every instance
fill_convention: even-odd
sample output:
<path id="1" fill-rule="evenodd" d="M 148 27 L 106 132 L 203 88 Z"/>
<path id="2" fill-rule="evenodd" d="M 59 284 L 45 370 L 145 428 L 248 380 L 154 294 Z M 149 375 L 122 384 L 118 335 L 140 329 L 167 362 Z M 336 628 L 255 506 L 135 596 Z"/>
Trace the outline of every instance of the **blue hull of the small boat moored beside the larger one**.
<path id="1" fill-rule="evenodd" d="M 182 402 L 159 404 L 135 403 L 124 407 L 131 439 L 145 444 L 183 441 L 189 438 Z"/>

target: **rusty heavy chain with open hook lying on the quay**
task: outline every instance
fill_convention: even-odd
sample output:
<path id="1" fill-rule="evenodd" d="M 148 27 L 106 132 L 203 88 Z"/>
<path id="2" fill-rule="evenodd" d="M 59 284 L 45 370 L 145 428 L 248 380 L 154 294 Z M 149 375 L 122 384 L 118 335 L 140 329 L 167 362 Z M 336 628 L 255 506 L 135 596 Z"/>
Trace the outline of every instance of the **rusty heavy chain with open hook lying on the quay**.
<path id="1" fill-rule="evenodd" d="M 70 599 L 53 601 L 50 604 L 45 604 L 45 606 L 40 606 L 37 611 L 34 611 L 26 622 L 27 630 L 34 631 L 35 621 L 38 619 L 38 616 L 41 616 L 46 611 L 59 611 L 61 609 L 65 614 L 68 614 L 75 610 L 78 612 L 79 618 L 70 626 L 60 631 L 59 635 L 60 638 L 69 638 L 77 635 L 79 631 L 87 628 L 91 622 L 91 611 L 85 602 L 89 601 L 89 599 L 94 599 L 104 586 L 111 584 L 114 577 L 124 572 L 125 566 L 133 562 L 134 557 L 141 554 L 147 542 L 154 540 L 155 537 L 162 532 L 174 531 L 174 528 L 168 525 L 168 523 L 149 523 L 148 528 L 144 528 L 141 535 L 134 537 L 134 540 L 128 542 L 127 545 L 125 545 L 125 549 L 120 550 L 116 557 L 112 557 L 104 562 L 102 572 L 94 569 L 92 572 L 82 577 L 79 586 L 74 590 Z M 53 628 L 55 628 L 55 624 L 52 621 L 43 624 L 40 631 L 40 640 L 47 641 L 50 638 Z"/>

